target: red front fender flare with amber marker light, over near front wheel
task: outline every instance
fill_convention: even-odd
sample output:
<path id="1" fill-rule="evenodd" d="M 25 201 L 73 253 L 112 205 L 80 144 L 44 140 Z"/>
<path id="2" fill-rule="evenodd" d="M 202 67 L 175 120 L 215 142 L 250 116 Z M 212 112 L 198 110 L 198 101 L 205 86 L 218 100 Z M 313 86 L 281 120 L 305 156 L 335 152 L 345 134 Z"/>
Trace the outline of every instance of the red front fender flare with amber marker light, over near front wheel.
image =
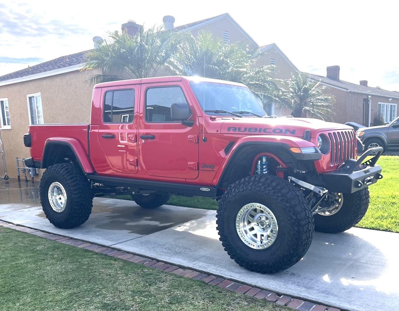
<path id="1" fill-rule="evenodd" d="M 276 137 L 275 135 L 253 135 L 245 136 L 236 141 L 233 145 L 229 154 L 224 158 L 223 162 L 219 166 L 216 174 L 213 178 L 212 184 L 214 186 L 221 186 L 221 181 L 226 170 L 229 170 L 229 165 L 234 161 L 235 156 L 239 154 L 243 148 L 248 145 L 261 145 L 262 147 L 283 147 L 287 153 L 290 153 L 296 160 L 320 160 L 321 153 L 317 150 L 316 153 L 298 154 L 290 151 L 291 147 L 304 148 L 304 147 L 316 147 L 312 142 L 305 141 L 298 137 Z M 251 163 L 252 163 L 251 159 Z"/>

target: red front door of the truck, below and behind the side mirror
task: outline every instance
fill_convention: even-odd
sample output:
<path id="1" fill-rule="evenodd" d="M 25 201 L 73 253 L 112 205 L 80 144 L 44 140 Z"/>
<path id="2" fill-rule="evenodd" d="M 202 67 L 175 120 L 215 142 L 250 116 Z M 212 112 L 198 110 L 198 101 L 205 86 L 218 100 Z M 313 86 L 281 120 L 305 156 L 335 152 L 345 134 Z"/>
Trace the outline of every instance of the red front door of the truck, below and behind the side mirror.
<path id="1" fill-rule="evenodd" d="M 142 124 L 138 130 L 140 170 L 150 176 L 195 179 L 198 177 L 198 118 L 181 86 L 142 85 Z M 192 127 L 172 121 L 172 103 L 188 103 Z"/>

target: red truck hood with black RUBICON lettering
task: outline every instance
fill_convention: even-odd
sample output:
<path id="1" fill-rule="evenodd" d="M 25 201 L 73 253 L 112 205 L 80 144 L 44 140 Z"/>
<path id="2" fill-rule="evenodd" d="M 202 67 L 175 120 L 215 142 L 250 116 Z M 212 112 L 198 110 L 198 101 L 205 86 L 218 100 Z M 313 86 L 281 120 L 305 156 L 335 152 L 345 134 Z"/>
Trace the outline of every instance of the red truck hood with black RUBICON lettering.
<path id="1" fill-rule="evenodd" d="M 215 120 L 216 121 L 216 120 Z M 219 121 L 219 120 L 217 120 Z M 302 137 L 306 130 L 310 130 L 311 137 L 316 133 L 330 130 L 353 130 L 352 127 L 340 123 L 326 122 L 311 118 L 231 118 L 221 125 L 222 134 L 243 135 L 286 135 Z"/>

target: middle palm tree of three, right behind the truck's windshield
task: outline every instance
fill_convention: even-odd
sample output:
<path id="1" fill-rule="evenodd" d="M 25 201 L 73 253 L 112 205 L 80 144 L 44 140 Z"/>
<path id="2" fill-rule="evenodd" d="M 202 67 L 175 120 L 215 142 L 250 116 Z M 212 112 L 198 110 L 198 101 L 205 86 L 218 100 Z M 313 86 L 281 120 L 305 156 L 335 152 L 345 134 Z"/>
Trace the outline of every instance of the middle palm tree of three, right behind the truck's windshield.
<path id="1" fill-rule="evenodd" d="M 200 76 L 243 83 L 261 101 L 275 100 L 277 86 L 270 76 L 270 66 L 254 69 L 258 50 L 248 50 L 239 44 L 224 44 L 213 38 L 209 30 L 180 34 L 176 53 L 167 62 L 172 75 Z"/>

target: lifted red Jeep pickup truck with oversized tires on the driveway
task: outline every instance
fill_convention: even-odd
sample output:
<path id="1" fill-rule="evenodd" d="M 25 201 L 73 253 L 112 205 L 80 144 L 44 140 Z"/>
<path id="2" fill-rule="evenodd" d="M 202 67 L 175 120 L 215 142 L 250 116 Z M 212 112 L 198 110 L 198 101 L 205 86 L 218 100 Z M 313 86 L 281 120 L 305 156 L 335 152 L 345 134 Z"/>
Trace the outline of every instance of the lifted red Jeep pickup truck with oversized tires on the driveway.
<path id="1" fill-rule="evenodd" d="M 143 208 L 216 198 L 223 247 L 260 273 L 298 262 L 314 230 L 356 225 L 382 178 L 382 148 L 356 160 L 352 128 L 267 116 L 245 85 L 196 77 L 97 84 L 89 125 L 32 125 L 24 144 L 26 165 L 46 168 L 40 200 L 54 226 L 83 224 L 94 196 L 130 194 Z"/>

